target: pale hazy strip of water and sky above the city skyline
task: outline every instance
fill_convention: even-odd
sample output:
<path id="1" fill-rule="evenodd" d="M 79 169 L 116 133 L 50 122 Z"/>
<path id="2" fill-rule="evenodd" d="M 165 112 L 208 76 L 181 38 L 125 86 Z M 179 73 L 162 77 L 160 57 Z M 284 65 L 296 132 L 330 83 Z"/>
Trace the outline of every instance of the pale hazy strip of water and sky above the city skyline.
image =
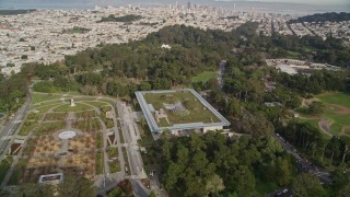
<path id="1" fill-rule="evenodd" d="M 93 9 L 95 5 L 127 5 L 140 4 L 152 7 L 160 4 L 205 4 L 220 8 L 236 8 L 247 10 L 252 8 L 275 11 L 276 8 L 282 10 L 303 11 L 345 11 L 350 12 L 348 0 L 0 0 L 2 9 Z M 288 3 L 288 4 L 287 4 Z M 305 4 L 301 5 L 301 4 Z M 244 8 L 245 7 L 245 8 Z"/>

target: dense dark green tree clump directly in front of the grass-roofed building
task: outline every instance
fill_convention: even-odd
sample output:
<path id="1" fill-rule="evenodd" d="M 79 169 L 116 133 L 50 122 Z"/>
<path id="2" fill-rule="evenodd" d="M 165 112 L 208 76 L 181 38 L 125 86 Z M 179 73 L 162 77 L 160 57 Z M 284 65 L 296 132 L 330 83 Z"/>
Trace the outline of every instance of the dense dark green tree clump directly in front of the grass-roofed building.
<path id="1" fill-rule="evenodd" d="M 163 163 L 165 188 L 178 196 L 250 196 L 257 179 L 277 179 L 284 186 L 291 182 L 293 171 L 291 158 L 271 137 L 235 140 L 210 131 L 205 136 L 163 138 L 152 149 L 160 153 L 158 162 Z M 270 173 L 261 177 L 262 169 Z"/>

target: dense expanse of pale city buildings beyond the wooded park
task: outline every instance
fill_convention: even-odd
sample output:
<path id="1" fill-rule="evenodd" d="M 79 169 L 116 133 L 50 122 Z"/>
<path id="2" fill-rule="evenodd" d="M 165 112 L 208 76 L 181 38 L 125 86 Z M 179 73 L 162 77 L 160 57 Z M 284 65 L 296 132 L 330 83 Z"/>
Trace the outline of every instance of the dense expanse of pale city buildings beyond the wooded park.
<path id="1" fill-rule="evenodd" d="M 114 14 L 116 18 L 135 14 L 142 19 L 131 23 L 102 22 L 102 18 Z M 63 60 L 101 43 L 127 43 L 142 39 L 148 34 L 168 25 L 185 24 L 203 30 L 232 31 L 247 21 L 259 22 L 258 32 L 270 35 L 272 31 L 281 34 L 332 35 L 349 39 L 349 24 L 326 23 L 325 25 L 287 25 L 293 19 L 289 14 L 236 11 L 208 5 L 162 5 L 156 8 L 108 7 L 93 10 L 38 10 L 27 14 L 0 16 L 0 68 L 4 74 L 19 72 L 23 63 L 51 63 Z M 89 31 L 74 33 L 73 27 Z M 312 30 L 312 31 L 311 31 Z"/>

